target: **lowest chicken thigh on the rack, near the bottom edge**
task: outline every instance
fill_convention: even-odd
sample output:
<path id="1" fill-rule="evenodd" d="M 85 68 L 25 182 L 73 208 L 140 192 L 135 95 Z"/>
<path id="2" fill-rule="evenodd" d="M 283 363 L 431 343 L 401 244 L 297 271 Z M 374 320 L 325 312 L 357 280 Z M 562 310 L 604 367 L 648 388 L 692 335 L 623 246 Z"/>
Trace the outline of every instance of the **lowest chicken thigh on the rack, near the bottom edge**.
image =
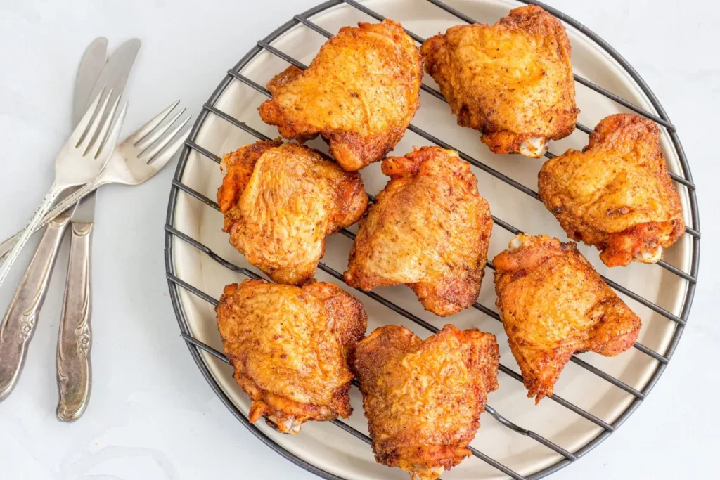
<path id="1" fill-rule="evenodd" d="M 499 363 L 495 335 L 453 325 L 424 341 L 399 325 L 362 340 L 354 368 L 377 462 L 434 480 L 469 456 Z"/>

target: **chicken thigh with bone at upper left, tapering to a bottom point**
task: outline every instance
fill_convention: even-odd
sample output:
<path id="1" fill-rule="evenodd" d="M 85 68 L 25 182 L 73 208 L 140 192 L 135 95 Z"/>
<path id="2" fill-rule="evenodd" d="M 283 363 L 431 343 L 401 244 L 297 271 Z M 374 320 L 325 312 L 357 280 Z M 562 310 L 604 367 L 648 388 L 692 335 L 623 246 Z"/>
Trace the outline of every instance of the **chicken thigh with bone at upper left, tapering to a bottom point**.
<path id="1" fill-rule="evenodd" d="M 573 353 L 630 348 L 640 319 L 577 251 L 547 235 L 518 235 L 495 264 L 495 303 L 528 397 L 552 395 Z"/>

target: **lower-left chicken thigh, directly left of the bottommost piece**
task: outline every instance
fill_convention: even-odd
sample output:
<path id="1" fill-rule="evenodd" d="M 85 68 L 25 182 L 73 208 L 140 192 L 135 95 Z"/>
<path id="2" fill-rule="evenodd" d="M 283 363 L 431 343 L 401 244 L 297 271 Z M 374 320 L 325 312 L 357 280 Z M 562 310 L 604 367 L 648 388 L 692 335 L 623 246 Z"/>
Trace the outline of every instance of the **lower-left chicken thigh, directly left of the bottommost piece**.
<path id="1" fill-rule="evenodd" d="M 215 312 L 235 381 L 253 401 L 250 422 L 266 417 L 297 433 L 309 420 L 351 415 L 348 361 L 367 327 L 354 296 L 322 282 L 246 280 L 225 287 Z"/>

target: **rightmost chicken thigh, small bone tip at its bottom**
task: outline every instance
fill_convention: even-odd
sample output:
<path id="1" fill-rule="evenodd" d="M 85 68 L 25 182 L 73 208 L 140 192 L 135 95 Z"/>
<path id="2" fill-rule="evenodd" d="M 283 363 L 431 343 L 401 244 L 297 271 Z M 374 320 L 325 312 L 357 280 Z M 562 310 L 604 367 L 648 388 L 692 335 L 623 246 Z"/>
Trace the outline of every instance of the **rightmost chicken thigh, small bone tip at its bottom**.
<path id="1" fill-rule="evenodd" d="M 660 129 L 635 114 L 601 120 L 582 152 L 544 164 L 538 187 L 567 235 L 595 245 L 608 267 L 655 263 L 685 232 Z"/>

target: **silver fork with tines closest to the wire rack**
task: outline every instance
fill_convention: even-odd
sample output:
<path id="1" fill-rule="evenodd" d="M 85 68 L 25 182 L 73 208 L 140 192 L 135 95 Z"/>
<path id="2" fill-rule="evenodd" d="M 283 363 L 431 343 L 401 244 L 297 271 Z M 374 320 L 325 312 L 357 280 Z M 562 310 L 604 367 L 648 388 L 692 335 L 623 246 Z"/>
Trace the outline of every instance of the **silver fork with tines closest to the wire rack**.
<path id="1" fill-rule="evenodd" d="M 158 171 L 161 171 L 163 166 L 168 163 L 175 152 L 185 142 L 189 133 L 188 130 L 182 135 L 178 135 L 173 141 L 173 138 L 176 137 L 178 132 L 183 129 L 191 118 L 188 116 L 178 123 L 178 119 L 185 112 L 185 109 L 181 109 L 169 122 L 158 127 L 170 116 L 179 103 L 179 101 L 176 101 L 174 104 L 171 104 L 138 130 L 132 132 L 120 145 L 117 145 L 117 148 L 115 148 L 102 173 L 86 185 L 81 186 L 81 188 L 73 192 L 73 194 L 58 201 L 58 204 L 45 214 L 45 217 L 42 218 L 42 221 L 37 224 L 33 231 L 37 232 L 40 228 L 48 225 L 48 222 L 72 207 L 79 199 L 103 185 L 138 185 L 152 178 Z M 172 130 L 170 130 L 171 127 L 173 127 Z M 170 131 L 168 132 L 168 130 Z M 17 232 L 0 244 L 0 263 L 12 249 L 21 234 L 22 231 Z"/>

